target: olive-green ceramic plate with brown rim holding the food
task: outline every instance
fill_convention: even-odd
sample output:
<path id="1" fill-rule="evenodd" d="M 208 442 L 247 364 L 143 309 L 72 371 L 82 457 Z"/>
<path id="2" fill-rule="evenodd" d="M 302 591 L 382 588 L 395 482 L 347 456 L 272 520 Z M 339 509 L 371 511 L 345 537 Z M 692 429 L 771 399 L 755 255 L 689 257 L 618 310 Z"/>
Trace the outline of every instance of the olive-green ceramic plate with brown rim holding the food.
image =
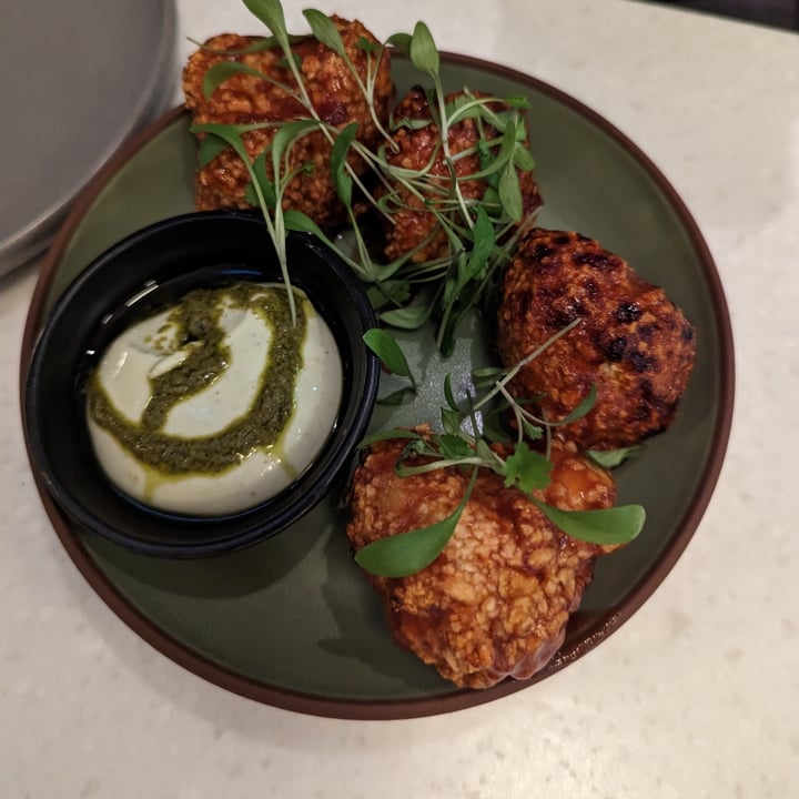
<path id="1" fill-rule="evenodd" d="M 600 559 L 566 643 L 539 680 L 617 629 L 653 593 L 691 537 L 724 457 L 732 407 L 729 318 L 708 250 L 664 176 L 623 134 L 562 92 L 524 74 L 457 55 L 443 60 L 448 90 L 463 85 L 532 102 L 530 142 L 545 198 L 540 224 L 577 230 L 664 285 L 694 322 L 698 360 L 674 426 L 619 473 L 620 499 L 643 503 L 640 537 Z M 402 94 L 418 80 L 396 58 Z M 189 119 L 168 114 L 125 148 L 78 201 L 34 294 L 22 363 L 43 314 L 105 247 L 151 222 L 193 208 L 195 143 Z M 406 336 L 426 386 L 401 413 L 373 425 L 436 419 L 445 372 L 488 365 L 478 320 L 442 363 L 428 335 Z M 24 371 L 24 366 L 23 366 Z M 321 715 L 395 718 L 495 699 L 528 682 L 463 691 L 396 647 L 377 598 L 353 564 L 341 493 L 295 528 L 237 554 L 171 562 L 130 553 L 68 522 L 42 500 L 78 568 L 155 648 L 195 674 L 253 699 Z"/>

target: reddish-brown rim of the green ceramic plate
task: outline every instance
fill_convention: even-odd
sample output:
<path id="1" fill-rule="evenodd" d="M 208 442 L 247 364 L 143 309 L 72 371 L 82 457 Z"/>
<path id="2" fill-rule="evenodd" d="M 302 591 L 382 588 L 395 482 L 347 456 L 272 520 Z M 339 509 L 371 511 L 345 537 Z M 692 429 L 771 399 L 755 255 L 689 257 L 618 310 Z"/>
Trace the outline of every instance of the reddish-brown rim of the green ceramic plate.
<path id="1" fill-rule="evenodd" d="M 721 465 L 727 451 L 727 443 L 732 423 L 732 406 L 735 397 L 735 356 L 729 310 L 724 289 L 721 286 L 721 280 L 710 250 L 705 242 L 694 216 L 677 191 L 666 179 L 659 168 L 656 166 L 651 159 L 649 159 L 649 156 L 646 155 L 646 153 L 644 153 L 643 150 L 635 144 L 635 142 L 633 142 L 626 134 L 608 122 L 608 120 L 599 113 L 585 105 L 579 100 L 576 100 L 570 94 L 567 94 L 566 92 L 524 72 L 484 59 L 458 53 L 442 52 L 442 60 L 454 65 L 481 69 L 486 72 L 494 73 L 497 77 L 504 77 L 518 83 L 526 84 L 536 92 L 545 94 L 575 111 L 624 148 L 627 153 L 630 154 L 648 173 L 653 182 L 664 193 L 690 239 L 694 251 L 701 264 L 704 276 L 707 280 L 711 304 L 717 315 L 716 333 L 719 337 L 720 348 L 720 393 L 719 411 L 712 435 L 711 451 L 700 477 L 699 487 L 679 523 L 678 533 L 664 549 L 658 562 L 639 579 L 638 584 L 628 594 L 626 600 L 619 607 L 615 608 L 611 613 L 609 613 L 609 615 L 601 617 L 603 620 L 600 624 L 598 624 L 589 635 L 575 643 L 572 647 L 562 649 L 542 671 L 528 680 L 505 680 L 484 690 L 464 689 L 456 690 L 444 696 L 382 701 L 333 699 L 328 697 L 302 694 L 285 688 L 276 688 L 274 686 L 243 677 L 242 675 L 220 666 L 195 651 L 192 651 L 169 633 L 153 624 L 149 618 L 128 603 L 113 583 L 105 577 L 98 564 L 92 559 L 79 537 L 74 535 L 69 520 L 53 503 L 47 487 L 40 479 L 40 476 L 36 473 L 33 474 L 44 510 L 48 514 L 67 554 L 89 585 L 111 608 L 111 610 L 113 610 L 119 618 L 124 621 L 124 624 L 127 624 L 134 633 L 136 633 L 162 655 L 209 682 L 240 696 L 286 710 L 331 718 L 357 720 L 417 718 L 452 712 L 493 701 L 500 697 L 515 694 L 516 691 L 527 688 L 528 686 L 559 671 L 567 665 L 586 655 L 600 641 L 605 640 L 608 636 L 619 629 L 619 627 L 621 627 L 621 625 L 641 607 L 641 605 L 663 583 L 667 574 L 671 570 L 685 550 L 696 532 L 702 515 L 705 514 L 720 475 Z M 24 325 L 20 361 L 20 393 L 22 397 L 22 406 L 24 404 L 23 395 L 28 364 L 30 362 L 31 352 L 42 322 L 44 301 L 50 289 L 51 280 L 72 235 L 80 225 L 90 205 L 94 202 L 99 193 L 108 184 L 117 171 L 131 158 L 133 158 L 136 152 L 141 150 L 151 139 L 169 128 L 185 113 L 186 112 L 182 105 L 178 107 L 153 122 L 127 144 L 123 144 L 87 184 L 53 240 L 53 243 L 42 263 L 41 272 L 33 291 L 31 305 Z"/>

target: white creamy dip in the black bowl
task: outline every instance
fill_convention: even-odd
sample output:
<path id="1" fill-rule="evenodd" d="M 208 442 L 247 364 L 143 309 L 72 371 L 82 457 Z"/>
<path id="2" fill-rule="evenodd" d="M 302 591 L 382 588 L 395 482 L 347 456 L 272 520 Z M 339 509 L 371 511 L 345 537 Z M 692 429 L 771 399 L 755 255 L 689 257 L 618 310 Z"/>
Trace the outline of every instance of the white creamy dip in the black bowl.
<path id="1" fill-rule="evenodd" d="M 285 289 L 280 284 L 240 283 L 235 292 L 214 292 L 211 307 L 219 311 L 222 367 L 215 376 L 205 378 L 203 373 L 195 377 L 200 388 L 178 396 L 155 432 L 155 443 L 146 445 L 146 454 L 139 457 L 131 442 L 143 429 L 145 408 L 154 402 L 155 382 L 166 375 L 165 380 L 180 385 L 174 377 L 181 373 L 175 370 L 191 363 L 186 358 L 194 347 L 208 346 L 202 335 L 186 336 L 185 327 L 175 321 L 174 311 L 185 299 L 132 325 L 113 341 L 89 392 L 89 431 L 105 474 L 125 494 L 162 510 L 220 516 L 269 499 L 313 462 L 338 414 L 343 377 L 335 340 L 307 297 L 295 290 L 305 334 L 293 392 L 291 383 L 283 387 L 289 404 L 281 407 L 286 408 L 287 419 L 273 431 L 273 443 L 253 444 L 247 431 L 253 419 L 261 418 L 259 403 L 273 400 L 270 392 L 274 388 L 264 378 L 269 377 L 270 364 L 279 362 L 273 358 L 280 343 L 260 301 L 270 292 L 282 292 L 285 305 Z M 195 370 L 195 375 L 200 372 Z M 111 414 L 113 424 L 101 422 L 103 415 L 95 412 L 92 395 L 102 398 L 104 417 Z M 255 427 L 269 429 L 265 425 Z M 222 444 L 231 444 L 231 429 L 244 433 L 235 451 L 221 453 Z M 203 446 L 210 449 L 203 451 Z M 163 462 L 158 461 L 159 452 L 166 453 Z M 205 466 L 202 452 L 232 463 Z"/>

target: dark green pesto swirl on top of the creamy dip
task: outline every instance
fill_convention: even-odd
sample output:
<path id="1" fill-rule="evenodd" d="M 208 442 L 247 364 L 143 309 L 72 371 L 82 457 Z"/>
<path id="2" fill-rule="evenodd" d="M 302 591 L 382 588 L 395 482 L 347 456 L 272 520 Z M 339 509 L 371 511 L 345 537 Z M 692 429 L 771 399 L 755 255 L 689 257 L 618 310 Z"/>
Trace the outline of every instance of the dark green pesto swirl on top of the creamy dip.
<path id="1" fill-rule="evenodd" d="M 208 388 L 231 363 L 221 325 L 223 307 L 254 312 L 271 328 L 269 357 L 256 377 L 254 400 L 244 414 L 216 433 L 191 438 L 168 435 L 163 428 L 170 411 Z M 241 463 L 253 449 L 273 446 L 294 409 L 306 335 L 303 303 L 296 304 L 293 324 L 283 289 L 239 282 L 190 292 L 172 309 L 166 325 L 178 330 L 179 347 L 185 347 L 188 356 L 174 368 L 149 378 L 151 398 L 141 421 L 134 423 L 120 414 L 95 370 L 87 386 L 88 409 L 94 422 L 140 462 L 172 475 L 220 473 Z"/>

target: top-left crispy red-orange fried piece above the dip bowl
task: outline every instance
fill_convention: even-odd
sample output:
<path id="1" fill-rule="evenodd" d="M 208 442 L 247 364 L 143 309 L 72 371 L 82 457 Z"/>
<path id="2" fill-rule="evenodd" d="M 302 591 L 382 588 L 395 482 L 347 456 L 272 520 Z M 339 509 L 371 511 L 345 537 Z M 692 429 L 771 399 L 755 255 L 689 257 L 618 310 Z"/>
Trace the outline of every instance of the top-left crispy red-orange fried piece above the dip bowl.
<path id="1" fill-rule="evenodd" d="M 363 39 L 376 44 L 376 39 L 361 22 L 350 22 L 338 17 L 332 17 L 332 20 L 341 33 L 347 55 L 355 64 L 361 79 L 365 81 L 367 54 L 358 42 Z M 205 47 L 216 51 L 243 50 L 260 40 L 260 37 L 225 33 L 209 39 Z M 371 117 L 368 104 L 344 61 L 312 38 L 296 42 L 292 49 L 302 61 L 300 69 L 303 82 L 311 103 L 321 119 L 337 128 L 357 122 L 357 139 L 367 146 L 376 145 L 381 136 Z M 296 89 L 291 72 L 280 65 L 282 59 L 280 49 L 261 50 L 244 55 L 224 55 L 209 52 L 206 49 L 198 50 L 190 57 L 183 71 L 186 108 L 191 110 L 194 122 L 246 124 L 306 118 L 307 112 L 296 100 L 283 89 L 257 75 L 235 74 L 222 83 L 210 100 L 203 94 L 202 84 L 205 73 L 221 61 L 246 64 L 274 81 Z M 388 102 L 393 92 L 390 58 L 385 53 L 377 68 L 374 89 L 374 107 L 381 123 L 387 122 Z M 246 150 L 253 158 L 263 151 L 273 138 L 272 129 L 243 134 Z M 314 169 L 311 174 L 301 173 L 294 178 L 283 199 L 284 209 L 302 211 L 326 229 L 334 226 L 343 218 L 343 206 L 337 200 L 330 174 L 330 153 L 331 144 L 321 132 L 314 131 L 303 136 L 292 150 L 291 169 L 306 163 L 312 163 Z M 267 159 L 267 162 L 271 164 L 271 159 Z M 355 156 L 351 156 L 350 163 L 356 171 L 363 172 L 364 164 Z M 237 155 L 231 149 L 226 149 L 199 171 L 196 208 L 201 211 L 216 208 L 247 208 L 244 189 L 249 182 L 246 169 Z"/>

